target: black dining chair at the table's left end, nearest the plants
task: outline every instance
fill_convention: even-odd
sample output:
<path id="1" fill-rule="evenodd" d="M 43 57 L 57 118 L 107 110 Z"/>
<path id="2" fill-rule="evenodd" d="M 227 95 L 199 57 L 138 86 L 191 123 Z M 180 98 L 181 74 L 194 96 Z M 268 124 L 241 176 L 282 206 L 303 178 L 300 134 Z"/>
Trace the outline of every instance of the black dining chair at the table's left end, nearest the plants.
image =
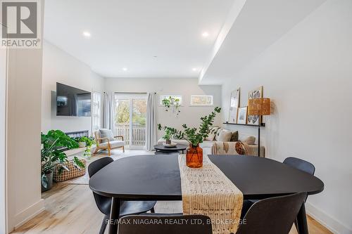
<path id="1" fill-rule="evenodd" d="M 92 177 L 96 172 L 98 172 L 106 165 L 113 162 L 111 157 L 102 157 L 99 160 L 91 162 L 88 166 L 89 177 Z M 101 228 L 99 234 L 103 234 L 106 229 L 106 220 L 109 219 L 110 209 L 111 209 L 111 197 L 105 197 L 96 193 L 93 193 L 96 206 L 105 214 L 103 222 L 101 223 Z M 142 214 L 144 212 L 154 212 L 154 205 L 156 201 L 122 201 L 120 205 L 120 217 L 130 215 L 130 214 Z"/>

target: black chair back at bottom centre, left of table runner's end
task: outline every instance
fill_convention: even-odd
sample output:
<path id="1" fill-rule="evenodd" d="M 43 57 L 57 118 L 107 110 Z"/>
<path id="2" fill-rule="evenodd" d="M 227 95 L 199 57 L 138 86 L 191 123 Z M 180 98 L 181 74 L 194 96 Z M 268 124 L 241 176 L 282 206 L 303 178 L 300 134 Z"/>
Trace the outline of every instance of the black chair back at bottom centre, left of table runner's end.
<path id="1" fill-rule="evenodd" d="M 153 214 L 122 217 L 118 234 L 212 234 L 211 220 L 204 215 Z"/>

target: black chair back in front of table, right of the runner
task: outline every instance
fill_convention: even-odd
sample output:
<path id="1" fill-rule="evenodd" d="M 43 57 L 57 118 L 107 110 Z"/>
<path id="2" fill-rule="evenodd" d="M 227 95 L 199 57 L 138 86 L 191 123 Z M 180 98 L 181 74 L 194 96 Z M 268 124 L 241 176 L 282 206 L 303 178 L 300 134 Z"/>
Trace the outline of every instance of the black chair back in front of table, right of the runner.
<path id="1" fill-rule="evenodd" d="M 289 233 L 306 193 L 260 200 L 249 208 L 236 234 Z"/>

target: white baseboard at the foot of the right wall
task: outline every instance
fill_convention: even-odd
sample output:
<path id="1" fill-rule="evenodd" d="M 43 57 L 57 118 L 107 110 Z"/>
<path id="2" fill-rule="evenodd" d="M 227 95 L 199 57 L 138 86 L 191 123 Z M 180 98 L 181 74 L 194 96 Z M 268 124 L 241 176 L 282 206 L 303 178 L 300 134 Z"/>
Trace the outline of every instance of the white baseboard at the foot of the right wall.
<path id="1" fill-rule="evenodd" d="M 306 202 L 306 212 L 313 219 L 318 221 L 322 226 L 329 229 L 332 233 L 335 234 L 352 234 L 352 230 L 344 226 L 343 223 L 340 223 L 336 219 L 329 216 L 325 212 L 322 212 L 321 209 L 315 207 L 313 204 Z"/>

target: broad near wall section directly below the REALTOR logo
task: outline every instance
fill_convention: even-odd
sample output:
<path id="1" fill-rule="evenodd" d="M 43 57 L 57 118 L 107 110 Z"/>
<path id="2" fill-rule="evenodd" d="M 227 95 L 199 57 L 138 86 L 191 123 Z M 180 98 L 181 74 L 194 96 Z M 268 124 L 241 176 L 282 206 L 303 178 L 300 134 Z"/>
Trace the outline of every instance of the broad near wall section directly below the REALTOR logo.
<path id="1" fill-rule="evenodd" d="M 8 54 L 8 230 L 44 209 L 40 187 L 42 49 Z"/>

